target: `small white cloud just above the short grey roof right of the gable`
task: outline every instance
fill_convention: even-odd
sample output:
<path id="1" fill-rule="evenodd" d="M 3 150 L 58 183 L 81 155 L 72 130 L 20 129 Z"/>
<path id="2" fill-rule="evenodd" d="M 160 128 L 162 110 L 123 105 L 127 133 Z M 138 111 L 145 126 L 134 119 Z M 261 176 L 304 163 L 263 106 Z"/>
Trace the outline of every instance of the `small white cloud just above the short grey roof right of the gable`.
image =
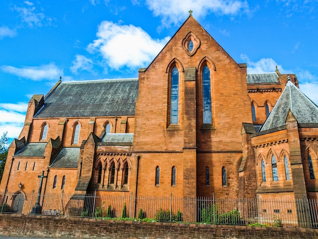
<path id="1" fill-rule="evenodd" d="M 285 72 L 282 66 L 278 65 L 272 58 L 262 58 L 258 62 L 252 62 L 247 55 L 241 54 L 241 59 L 247 63 L 248 74 L 275 72 L 276 66 L 280 73 L 283 74 Z"/>

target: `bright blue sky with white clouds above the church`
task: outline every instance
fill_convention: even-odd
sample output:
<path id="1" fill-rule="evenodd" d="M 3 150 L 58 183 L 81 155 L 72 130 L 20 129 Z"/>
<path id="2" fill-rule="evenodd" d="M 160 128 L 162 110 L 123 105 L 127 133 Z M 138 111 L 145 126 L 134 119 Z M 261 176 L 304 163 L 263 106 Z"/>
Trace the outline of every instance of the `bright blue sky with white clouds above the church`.
<path id="1" fill-rule="evenodd" d="M 318 1 L 63 0 L 0 3 L 0 134 L 62 81 L 138 77 L 188 11 L 248 73 L 294 73 L 318 103 Z"/>

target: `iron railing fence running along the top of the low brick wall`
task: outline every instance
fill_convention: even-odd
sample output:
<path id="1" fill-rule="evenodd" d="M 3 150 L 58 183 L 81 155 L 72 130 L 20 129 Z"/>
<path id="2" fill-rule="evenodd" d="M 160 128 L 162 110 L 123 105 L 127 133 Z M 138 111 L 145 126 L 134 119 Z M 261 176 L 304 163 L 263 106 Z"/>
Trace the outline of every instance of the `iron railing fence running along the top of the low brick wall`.
<path id="1" fill-rule="evenodd" d="M 0 193 L 0 213 L 318 228 L 318 200 Z"/>

